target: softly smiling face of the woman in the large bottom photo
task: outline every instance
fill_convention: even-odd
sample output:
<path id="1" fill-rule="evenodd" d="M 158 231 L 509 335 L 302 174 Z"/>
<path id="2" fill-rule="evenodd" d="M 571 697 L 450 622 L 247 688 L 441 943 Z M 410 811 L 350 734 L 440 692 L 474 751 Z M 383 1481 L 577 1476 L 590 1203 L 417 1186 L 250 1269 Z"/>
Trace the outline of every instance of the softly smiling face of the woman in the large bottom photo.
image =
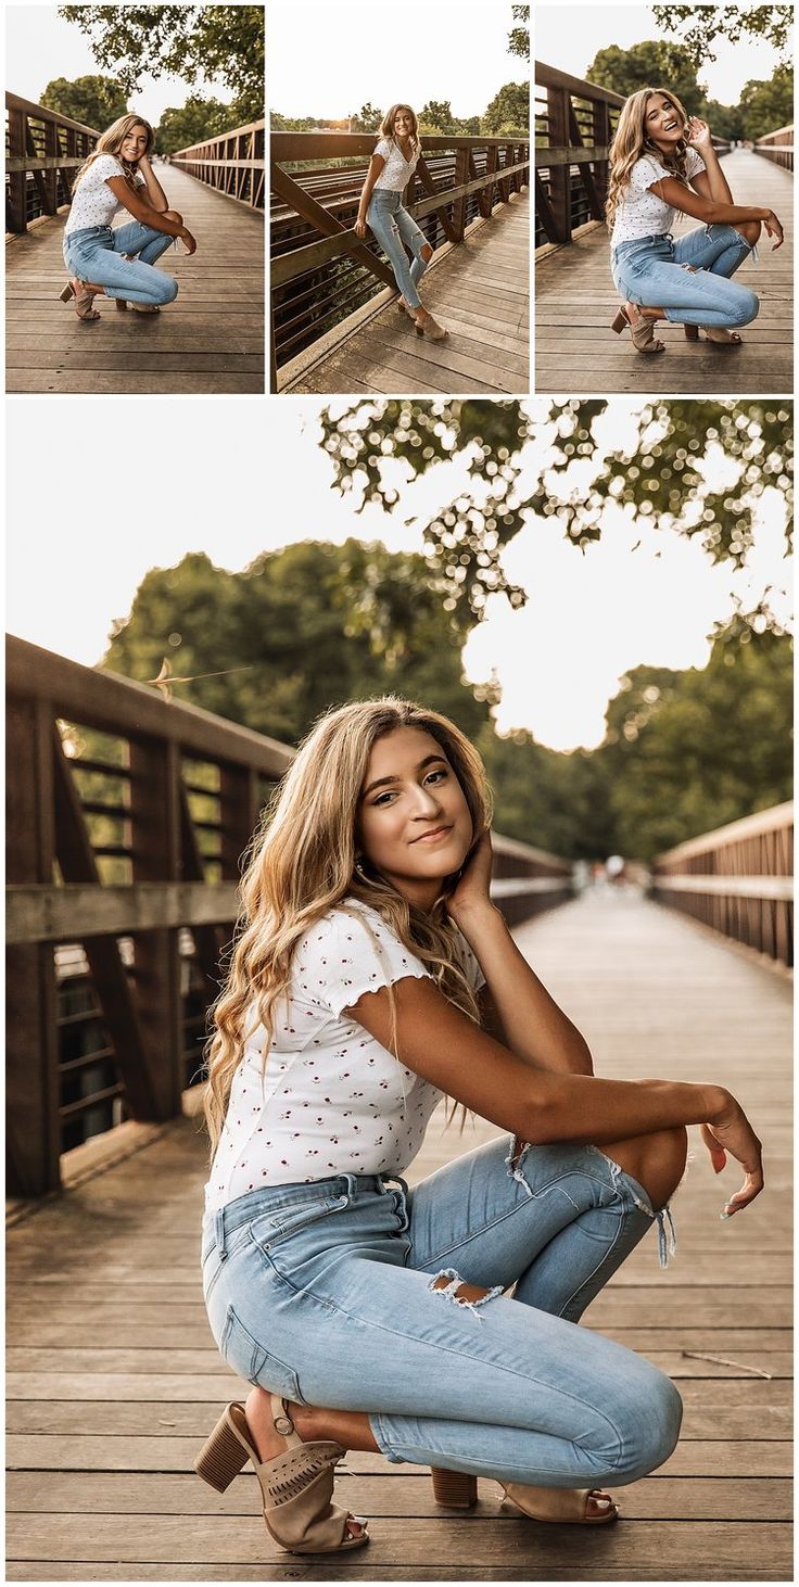
<path id="1" fill-rule="evenodd" d="M 369 757 L 357 843 L 411 903 L 432 905 L 473 843 L 464 790 L 442 746 L 419 727 L 397 727 Z"/>

